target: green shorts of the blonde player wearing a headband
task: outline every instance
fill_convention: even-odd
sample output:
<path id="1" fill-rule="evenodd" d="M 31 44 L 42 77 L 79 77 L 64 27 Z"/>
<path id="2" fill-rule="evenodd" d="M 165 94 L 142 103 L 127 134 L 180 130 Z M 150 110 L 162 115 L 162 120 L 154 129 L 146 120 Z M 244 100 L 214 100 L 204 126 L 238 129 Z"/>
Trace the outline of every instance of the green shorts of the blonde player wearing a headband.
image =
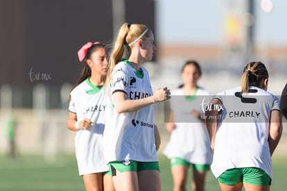
<path id="1" fill-rule="evenodd" d="M 135 160 L 113 161 L 109 163 L 109 171 L 115 176 L 119 172 L 139 172 L 146 169 L 159 171 L 159 162 L 139 162 Z"/>

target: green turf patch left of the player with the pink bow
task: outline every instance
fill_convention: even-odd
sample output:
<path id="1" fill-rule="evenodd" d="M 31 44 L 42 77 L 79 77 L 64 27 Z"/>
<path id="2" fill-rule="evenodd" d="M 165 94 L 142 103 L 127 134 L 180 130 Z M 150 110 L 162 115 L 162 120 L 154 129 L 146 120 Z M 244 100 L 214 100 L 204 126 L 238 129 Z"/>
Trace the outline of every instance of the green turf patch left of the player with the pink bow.
<path id="1" fill-rule="evenodd" d="M 41 156 L 0 161 L 0 190 L 85 190 L 73 156 L 58 157 L 56 163 L 45 163 Z"/>

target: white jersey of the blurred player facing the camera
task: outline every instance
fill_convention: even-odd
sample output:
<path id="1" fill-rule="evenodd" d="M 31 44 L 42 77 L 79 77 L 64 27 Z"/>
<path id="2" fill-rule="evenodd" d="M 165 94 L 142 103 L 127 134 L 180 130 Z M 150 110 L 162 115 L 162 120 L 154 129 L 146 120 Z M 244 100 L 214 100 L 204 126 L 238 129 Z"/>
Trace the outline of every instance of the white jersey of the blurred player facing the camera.
<path id="1" fill-rule="evenodd" d="M 207 127 L 191 111 L 196 110 L 204 117 L 202 101 L 207 103 L 211 94 L 204 88 L 198 88 L 191 97 L 184 96 L 183 88 L 171 92 L 175 129 L 171 132 L 164 154 L 168 158 L 179 157 L 193 164 L 210 164 L 212 156 Z"/>

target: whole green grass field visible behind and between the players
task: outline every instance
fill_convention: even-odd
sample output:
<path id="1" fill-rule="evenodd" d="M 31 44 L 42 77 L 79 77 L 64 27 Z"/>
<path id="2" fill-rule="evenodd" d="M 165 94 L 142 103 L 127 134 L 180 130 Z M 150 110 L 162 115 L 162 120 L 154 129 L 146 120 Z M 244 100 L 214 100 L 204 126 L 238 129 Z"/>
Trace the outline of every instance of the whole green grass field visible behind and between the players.
<path id="1" fill-rule="evenodd" d="M 169 160 L 159 154 L 162 172 L 162 190 L 172 190 Z M 273 181 L 271 190 L 286 190 L 287 157 L 273 158 Z M 189 180 L 191 177 L 189 177 Z M 0 156 L 0 190 L 3 191 L 79 191 L 85 190 L 74 156 L 58 156 L 57 163 L 44 163 L 42 156 L 21 156 L 17 160 L 8 160 Z M 190 185 L 186 190 L 191 190 Z M 206 181 L 207 191 L 219 190 L 214 176 L 209 172 Z"/>

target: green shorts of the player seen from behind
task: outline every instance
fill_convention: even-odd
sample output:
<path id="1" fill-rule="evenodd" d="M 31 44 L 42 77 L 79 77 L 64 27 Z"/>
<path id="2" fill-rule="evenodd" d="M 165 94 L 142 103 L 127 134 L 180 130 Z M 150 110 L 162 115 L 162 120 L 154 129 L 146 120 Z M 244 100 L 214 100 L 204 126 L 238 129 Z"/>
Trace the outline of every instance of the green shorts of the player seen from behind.
<path id="1" fill-rule="evenodd" d="M 220 183 L 226 185 L 242 182 L 252 185 L 271 185 L 270 176 L 262 169 L 256 167 L 227 169 L 217 179 Z"/>

